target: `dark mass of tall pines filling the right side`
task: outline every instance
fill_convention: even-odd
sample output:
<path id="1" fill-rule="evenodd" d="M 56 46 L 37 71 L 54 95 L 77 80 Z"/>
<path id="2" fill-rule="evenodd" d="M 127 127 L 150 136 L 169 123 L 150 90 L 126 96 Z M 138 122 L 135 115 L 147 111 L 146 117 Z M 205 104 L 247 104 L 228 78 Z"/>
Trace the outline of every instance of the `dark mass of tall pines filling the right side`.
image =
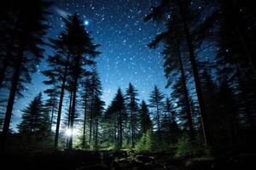
<path id="1" fill-rule="evenodd" d="M 145 18 L 166 25 L 149 47 L 165 44 L 166 86 L 178 115 L 185 113 L 180 120 L 188 123 L 190 139 L 202 130 L 207 146 L 254 141 L 255 20 L 248 4 L 162 0 Z M 202 57 L 208 46 L 217 52 L 212 58 Z"/>

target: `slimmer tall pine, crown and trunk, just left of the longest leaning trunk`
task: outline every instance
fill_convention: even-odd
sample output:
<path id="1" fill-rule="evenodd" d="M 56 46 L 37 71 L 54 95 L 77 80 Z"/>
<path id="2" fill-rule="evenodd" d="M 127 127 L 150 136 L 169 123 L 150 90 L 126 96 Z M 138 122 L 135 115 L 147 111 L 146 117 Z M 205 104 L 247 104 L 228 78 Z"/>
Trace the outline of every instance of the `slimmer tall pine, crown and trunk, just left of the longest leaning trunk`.
<path id="1" fill-rule="evenodd" d="M 166 24 L 168 31 L 160 33 L 155 37 L 154 41 L 149 44 L 150 48 L 156 48 L 157 45 L 163 41 L 166 46 L 163 50 L 164 68 L 166 75 L 166 87 L 170 87 L 174 82 L 174 79 L 180 78 L 182 81 L 182 93 L 184 97 L 184 108 L 187 114 L 189 123 L 190 139 L 195 139 L 194 125 L 192 122 L 192 114 L 189 105 L 189 88 L 188 88 L 188 76 L 185 74 L 185 69 L 189 68 L 189 65 L 184 65 L 185 59 L 182 57 L 181 46 L 183 46 L 183 27 L 179 23 L 179 18 L 173 14 Z M 185 60 L 185 62 L 187 59 Z M 189 62 L 189 61 L 187 61 Z M 188 70 L 188 69 L 187 69 Z"/>

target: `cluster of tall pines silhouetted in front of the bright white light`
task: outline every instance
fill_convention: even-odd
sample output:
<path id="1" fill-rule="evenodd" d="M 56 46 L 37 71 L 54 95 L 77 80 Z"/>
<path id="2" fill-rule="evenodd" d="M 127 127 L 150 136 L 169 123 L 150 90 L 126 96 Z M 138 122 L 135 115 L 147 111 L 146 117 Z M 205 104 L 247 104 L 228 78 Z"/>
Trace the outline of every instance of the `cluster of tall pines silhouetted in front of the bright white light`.
<path id="1" fill-rule="evenodd" d="M 48 62 L 51 69 L 44 71 L 44 75 L 49 77 L 49 83 L 58 93 L 59 88 L 55 88 L 55 81 L 59 82 L 61 92 L 59 95 L 59 107 L 57 112 L 57 121 L 55 129 L 55 148 L 58 146 L 60 126 L 61 126 L 61 112 L 65 91 L 69 92 L 69 108 L 67 114 L 67 129 L 73 131 L 74 121 L 77 116 L 77 99 L 78 90 L 83 82 L 84 77 L 90 78 L 90 138 L 91 125 L 93 118 L 93 107 L 96 104 L 96 98 L 100 98 L 101 85 L 97 77 L 96 71 L 89 71 L 85 66 L 96 65 L 93 60 L 97 54 L 96 45 L 92 42 L 89 33 L 84 29 L 84 26 L 79 20 L 79 16 L 74 14 L 69 18 L 62 18 L 65 22 L 66 30 L 60 34 L 60 39 L 50 39 L 51 46 L 55 48 L 56 54 L 49 56 Z M 52 88 L 51 88 L 52 89 Z M 87 104 L 85 104 L 87 105 Z M 87 111 L 86 111 L 87 112 Z M 73 147 L 73 133 L 67 139 L 67 147 Z"/>

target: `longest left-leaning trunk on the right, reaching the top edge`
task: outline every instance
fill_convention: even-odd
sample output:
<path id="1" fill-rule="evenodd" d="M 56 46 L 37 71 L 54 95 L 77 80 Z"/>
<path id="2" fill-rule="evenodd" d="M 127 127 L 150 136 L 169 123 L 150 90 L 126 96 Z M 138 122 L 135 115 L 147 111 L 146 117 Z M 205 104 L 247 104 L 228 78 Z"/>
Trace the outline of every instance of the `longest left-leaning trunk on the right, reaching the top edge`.
<path id="1" fill-rule="evenodd" d="M 180 10 L 180 14 L 181 14 L 182 22 L 183 22 L 185 38 L 186 38 L 186 42 L 187 42 L 188 48 L 189 48 L 189 58 L 190 58 L 191 66 L 192 66 L 194 79 L 195 79 L 195 91 L 197 94 L 199 110 L 201 113 L 201 127 L 202 127 L 202 130 L 204 133 L 206 147 L 208 147 L 208 145 L 211 145 L 211 136 L 209 133 L 209 127 L 208 127 L 208 122 L 207 122 L 207 111 L 206 111 L 204 99 L 202 96 L 201 82 L 200 82 L 200 78 L 199 78 L 198 68 L 197 68 L 196 59 L 195 59 L 195 52 L 194 52 L 193 43 L 191 40 L 189 26 L 187 25 L 187 18 L 183 11 L 183 4 L 181 3 L 180 0 L 178 3 L 178 7 Z"/>

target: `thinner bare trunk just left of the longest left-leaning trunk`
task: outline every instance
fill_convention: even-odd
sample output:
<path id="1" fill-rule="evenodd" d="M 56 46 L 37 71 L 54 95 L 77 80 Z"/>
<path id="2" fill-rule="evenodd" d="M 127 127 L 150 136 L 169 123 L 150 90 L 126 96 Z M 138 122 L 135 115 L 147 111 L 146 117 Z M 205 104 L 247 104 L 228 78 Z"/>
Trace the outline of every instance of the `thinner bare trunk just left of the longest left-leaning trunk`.
<path id="1" fill-rule="evenodd" d="M 179 47 L 177 47 L 177 50 L 179 52 Z M 184 94 L 184 99 L 185 99 L 185 108 L 186 108 L 187 118 L 188 118 L 188 122 L 189 122 L 189 135 L 190 135 L 190 139 L 193 141 L 193 140 L 195 140 L 195 131 L 194 131 L 192 115 L 191 115 L 191 111 L 190 111 L 189 91 L 187 88 L 185 72 L 183 69 L 183 59 L 182 59 L 182 56 L 180 53 L 178 53 L 178 61 L 179 61 L 181 77 L 182 77 L 182 86 L 183 86 L 182 88 L 183 88 L 183 94 Z"/>

